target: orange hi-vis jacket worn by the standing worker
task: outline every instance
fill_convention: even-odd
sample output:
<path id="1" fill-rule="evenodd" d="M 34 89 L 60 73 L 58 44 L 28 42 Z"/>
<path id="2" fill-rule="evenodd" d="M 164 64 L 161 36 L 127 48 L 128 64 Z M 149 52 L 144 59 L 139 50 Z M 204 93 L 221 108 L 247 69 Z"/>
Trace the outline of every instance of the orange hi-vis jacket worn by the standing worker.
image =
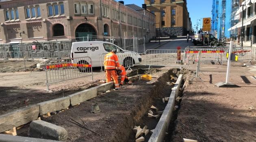
<path id="1" fill-rule="evenodd" d="M 120 64 L 117 55 L 114 52 L 110 52 L 104 57 L 104 68 L 105 70 L 115 70 L 119 68 Z"/>

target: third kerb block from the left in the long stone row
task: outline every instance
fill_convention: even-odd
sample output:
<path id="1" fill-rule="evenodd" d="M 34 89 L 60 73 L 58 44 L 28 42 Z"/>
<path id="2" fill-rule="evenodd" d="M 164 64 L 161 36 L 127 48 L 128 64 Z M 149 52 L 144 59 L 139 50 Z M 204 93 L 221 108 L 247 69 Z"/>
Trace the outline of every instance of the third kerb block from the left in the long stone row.
<path id="1" fill-rule="evenodd" d="M 74 93 L 72 95 L 69 95 L 68 97 L 70 97 L 70 104 L 72 106 L 75 106 L 80 102 L 85 102 L 96 96 L 97 96 L 97 88 L 93 87 L 84 91 L 80 91 L 78 93 Z"/>

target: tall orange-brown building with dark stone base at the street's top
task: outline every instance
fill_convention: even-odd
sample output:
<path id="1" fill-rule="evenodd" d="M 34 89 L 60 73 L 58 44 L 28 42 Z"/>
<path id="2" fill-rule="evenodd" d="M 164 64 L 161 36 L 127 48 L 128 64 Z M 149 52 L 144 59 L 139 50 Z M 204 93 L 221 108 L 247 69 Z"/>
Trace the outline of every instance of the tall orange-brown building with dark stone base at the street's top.
<path id="1" fill-rule="evenodd" d="M 160 27 L 161 36 L 182 36 L 191 33 L 187 0 L 145 0 L 145 4 L 148 11 L 156 15 L 156 30 Z"/>

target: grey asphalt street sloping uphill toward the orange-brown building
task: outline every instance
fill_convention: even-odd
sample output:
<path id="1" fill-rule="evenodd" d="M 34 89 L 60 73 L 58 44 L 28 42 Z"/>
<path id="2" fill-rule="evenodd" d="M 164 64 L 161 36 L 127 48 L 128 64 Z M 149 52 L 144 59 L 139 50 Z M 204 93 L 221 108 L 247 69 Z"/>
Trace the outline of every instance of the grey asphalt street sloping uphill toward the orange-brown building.
<path id="1" fill-rule="evenodd" d="M 178 37 L 174 40 L 171 40 L 167 44 L 158 47 L 157 49 L 165 49 L 165 50 L 176 50 L 177 47 L 181 47 L 181 49 L 185 49 L 187 46 L 194 46 L 193 42 L 191 42 L 191 39 L 189 39 L 189 42 L 187 42 L 187 37 L 182 36 Z"/>

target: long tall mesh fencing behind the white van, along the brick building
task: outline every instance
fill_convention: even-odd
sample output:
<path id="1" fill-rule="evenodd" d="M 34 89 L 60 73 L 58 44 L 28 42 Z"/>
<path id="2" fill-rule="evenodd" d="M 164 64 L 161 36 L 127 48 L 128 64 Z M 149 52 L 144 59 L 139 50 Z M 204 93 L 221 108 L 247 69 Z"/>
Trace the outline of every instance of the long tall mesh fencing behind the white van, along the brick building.
<path id="1" fill-rule="evenodd" d="M 69 57 L 73 42 L 107 41 L 124 50 L 145 52 L 145 37 L 118 37 L 87 35 L 74 39 L 60 39 L 47 42 L 0 44 L 0 58 L 63 58 Z"/>

